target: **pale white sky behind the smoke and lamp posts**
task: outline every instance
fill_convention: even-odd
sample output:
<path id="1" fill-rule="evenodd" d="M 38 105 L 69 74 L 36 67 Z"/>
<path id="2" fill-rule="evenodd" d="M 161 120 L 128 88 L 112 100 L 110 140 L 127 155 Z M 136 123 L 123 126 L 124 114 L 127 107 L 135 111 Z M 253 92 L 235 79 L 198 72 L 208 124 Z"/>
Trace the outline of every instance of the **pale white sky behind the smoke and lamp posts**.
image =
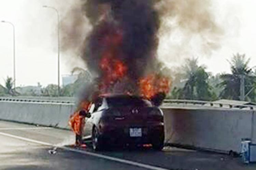
<path id="1" fill-rule="evenodd" d="M 0 21 L 10 21 L 16 33 L 16 86 L 57 84 L 57 16 L 42 5 L 54 6 L 60 17 L 66 14 L 72 0 L 0 0 Z M 232 54 L 245 53 L 251 58 L 250 66 L 256 65 L 256 1 L 212 0 L 216 23 L 223 29 L 219 48 L 203 53 L 192 38 L 174 52 L 182 32 L 172 32 L 160 37 L 159 59 L 169 67 L 180 66 L 187 57 L 198 57 L 199 64 L 207 71 L 230 72 Z M 60 73 L 70 74 L 76 66 L 84 67 L 82 61 L 72 54 L 61 52 Z M 75 55 L 75 54 L 74 54 Z M 10 24 L 0 22 L 0 84 L 6 77 L 13 77 L 13 33 Z"/>

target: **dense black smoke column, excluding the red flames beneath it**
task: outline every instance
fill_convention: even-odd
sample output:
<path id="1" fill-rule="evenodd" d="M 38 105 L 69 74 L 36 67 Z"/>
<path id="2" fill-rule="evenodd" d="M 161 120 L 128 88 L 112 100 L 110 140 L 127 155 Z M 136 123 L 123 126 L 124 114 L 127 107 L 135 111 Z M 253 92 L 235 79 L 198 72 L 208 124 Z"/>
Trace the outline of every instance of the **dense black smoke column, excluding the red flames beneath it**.
<path id="1" fill-rule="evenodd" d="M 100 5 L 109 5 L 106 18 L 99 16 Z M 107 8 L 107 7 L 106 7 Z M 99 62 L 106 48 L 128 66 L 128 77 L 136 81 L 156 62 L 160 19 L 152 0 L 88 0 L 83 7 L 93 25 L 85 40 L 83 59 L 89 69 L 102 75 Z M 103 38 L 122 34 L 122 44 L 111 47 Z M 111 38 L 111 37 L 110 37 Z"/>

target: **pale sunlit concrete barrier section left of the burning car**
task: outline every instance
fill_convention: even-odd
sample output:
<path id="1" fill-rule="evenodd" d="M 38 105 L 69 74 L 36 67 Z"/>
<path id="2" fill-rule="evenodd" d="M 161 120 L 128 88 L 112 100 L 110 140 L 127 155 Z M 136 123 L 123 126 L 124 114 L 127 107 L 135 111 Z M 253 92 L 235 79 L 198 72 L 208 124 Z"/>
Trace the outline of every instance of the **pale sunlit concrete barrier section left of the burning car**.
<path id="1" fill-rule="evenodd" d="M 0 119 L 68 128 L 74 104 L 0 101 Z"/>

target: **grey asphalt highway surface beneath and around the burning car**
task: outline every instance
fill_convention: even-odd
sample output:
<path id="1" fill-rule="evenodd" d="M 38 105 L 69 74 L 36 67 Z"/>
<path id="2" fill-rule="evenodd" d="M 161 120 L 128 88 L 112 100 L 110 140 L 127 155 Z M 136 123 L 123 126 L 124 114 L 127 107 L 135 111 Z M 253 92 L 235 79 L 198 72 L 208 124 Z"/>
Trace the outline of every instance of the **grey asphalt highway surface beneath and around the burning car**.
<path id="1" fill-rule="evenodd" d="M 0 121 L 0 169 L 63 170 L 255 170 L 240 158 L 228 155 L 166 147 L 109 149 L 94 152 L 75 148 L 71 131 Z"/>

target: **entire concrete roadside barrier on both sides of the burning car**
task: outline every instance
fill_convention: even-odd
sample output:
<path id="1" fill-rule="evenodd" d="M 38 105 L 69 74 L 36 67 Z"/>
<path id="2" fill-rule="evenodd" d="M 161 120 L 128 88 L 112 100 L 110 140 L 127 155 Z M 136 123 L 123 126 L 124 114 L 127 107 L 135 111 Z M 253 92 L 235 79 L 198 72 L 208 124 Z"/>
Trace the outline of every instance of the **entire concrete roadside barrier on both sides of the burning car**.
<path id="1" fill-rule="evenodd" d="M 0 119 L 68 128 L 74 103 L 0 100 Z M 207 150 L 240 152 L 242 138 L 256 142 L 253 108 L 162 107 L 166 142 Z"/>

